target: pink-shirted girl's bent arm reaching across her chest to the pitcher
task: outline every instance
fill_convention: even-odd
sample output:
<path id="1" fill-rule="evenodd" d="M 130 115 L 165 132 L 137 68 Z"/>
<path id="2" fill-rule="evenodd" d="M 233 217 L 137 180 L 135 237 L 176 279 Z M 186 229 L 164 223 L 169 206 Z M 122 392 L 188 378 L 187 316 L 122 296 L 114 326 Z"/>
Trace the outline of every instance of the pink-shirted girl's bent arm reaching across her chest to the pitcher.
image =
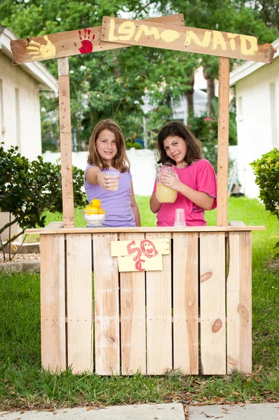
<path id="1" fill-rule="evenodd" d="M 164 176 L 161 175 L 160 181 L 164 186 L 170 187 L 183 194 L 188 200 L 191 200 L 193 204 L 196 204 L 196 206 L 201 207 L 203 210 L 212 209 L 214 198 L 203 193 L 203 191 L 196 191 L 193 190 L 193 188 L 186 186 L 179 180 L 177 174 L 175 174 L 175 176 L 168 174 L 165 174 Z"/>

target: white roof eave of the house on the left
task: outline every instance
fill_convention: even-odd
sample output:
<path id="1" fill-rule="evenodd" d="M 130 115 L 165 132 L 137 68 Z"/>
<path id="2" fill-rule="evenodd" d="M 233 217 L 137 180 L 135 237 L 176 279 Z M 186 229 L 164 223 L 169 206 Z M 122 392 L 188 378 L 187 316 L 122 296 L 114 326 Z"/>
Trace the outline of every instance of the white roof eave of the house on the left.
<path id="1" fill-rule="evenodd" d="M 0 51 L 6 57 L 13 60 L 13 52 L 11 51 L 10 42 L 18 39 L 17 36 L 9 29 L 0 25 Z M 46 69 L 46 66 L 40 62 L 31 62 L 26 64 L 18 64 L 20 68 L 28 73 L 32 78 L 39 82 L 41 90 L 53 90 L 58 93 L 57 79 Z"/>

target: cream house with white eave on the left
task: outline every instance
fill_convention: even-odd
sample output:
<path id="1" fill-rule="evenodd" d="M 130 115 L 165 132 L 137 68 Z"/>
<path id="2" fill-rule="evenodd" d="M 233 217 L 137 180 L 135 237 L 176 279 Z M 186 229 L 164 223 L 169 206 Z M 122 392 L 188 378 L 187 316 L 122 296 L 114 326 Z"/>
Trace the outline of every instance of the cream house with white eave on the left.
<path id="1" fill-rule="evenodd" d="M 10 42 L 18 39 L 8 27 L 0 25 L 0 143 L 4 148 L 18 146 L 30 160 L 41 155 L 41 117 L 39 91 L 57 94 L 57 80 L 40 62 L 13 65 Z M 0 226 L 8 221 L 0 213 Z M 16 232 L 12 232 L 12 235 Z M 2 235 L 6 240 L 5 232 Z"/>

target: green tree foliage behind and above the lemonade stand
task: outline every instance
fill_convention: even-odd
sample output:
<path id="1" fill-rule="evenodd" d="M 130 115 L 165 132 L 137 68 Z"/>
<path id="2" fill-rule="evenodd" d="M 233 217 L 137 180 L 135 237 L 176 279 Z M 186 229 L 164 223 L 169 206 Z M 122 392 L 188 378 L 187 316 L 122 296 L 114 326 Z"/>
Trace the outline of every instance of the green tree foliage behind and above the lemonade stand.
<path id="1" fill-rule="evenodd" d="M 125 13 L 125 15 L 123 14 Z M 259 37 L 259 43 L 278 37 L 278 0 L 1 0 L 1 24 L 19 38 L 100 26 L 102 16 L 147 18 L 184 13 L 185 25 L 233 31 Z M 136 51 L 136 52 L 135 52 Z M 236 60 L 231 60 L 231 66 Z M 57 60 L 44 64 L 57 77 Z M 93 126 L 102 118 L 121 125 L 129 142 L 144 136 L 144 94 L 149 95 L 147 116 L 150 144 L 164 123 L 172 119 L 171 104 L 186 95 L 189 115 L 193 109 L 193 73 L 203 65 L 207 80 L 208 112 L 212 108 L 212 83 L 218 76 L 217 57 L 158 48 L 123 48 L 76 55 L 69 59 L 73 150 L 87 148 Z M 213 93 L 212 93 L 213 92 Z M 57 98 L 41 94 L 43 148 L 57 151 Z M 207 137 L 203 136 L 203 142 Z M 211 141 L 211 136 L 208 137 Z"/>

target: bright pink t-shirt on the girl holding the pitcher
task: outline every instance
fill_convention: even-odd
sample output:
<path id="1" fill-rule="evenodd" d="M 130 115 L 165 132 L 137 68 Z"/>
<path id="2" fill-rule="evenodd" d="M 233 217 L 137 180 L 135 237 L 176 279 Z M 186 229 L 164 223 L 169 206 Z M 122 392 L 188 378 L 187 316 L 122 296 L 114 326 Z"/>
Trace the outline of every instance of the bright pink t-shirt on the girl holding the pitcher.
<path id="1" fill-rule="evenodd" d="M 175 168 L 179 180 L 193 190 L 202 191 L 215 200 L 212 209 L 217 207 L 217 181 L 215 170 L 206 159 L 193 162 L 189 167 Z M 153 193 L 156 193 L 157 181 L 154 183 Z M 175 223 L 175 209 L 184 209 L 186 226 L 205 226 L 204 210 L 193 204 L 181 193 L 177 193 L 174 203 L 163 203 L 157 213 L 157 226 L 173 226 Z M 211 210 L 212 210 L 211 209 Z"/>

